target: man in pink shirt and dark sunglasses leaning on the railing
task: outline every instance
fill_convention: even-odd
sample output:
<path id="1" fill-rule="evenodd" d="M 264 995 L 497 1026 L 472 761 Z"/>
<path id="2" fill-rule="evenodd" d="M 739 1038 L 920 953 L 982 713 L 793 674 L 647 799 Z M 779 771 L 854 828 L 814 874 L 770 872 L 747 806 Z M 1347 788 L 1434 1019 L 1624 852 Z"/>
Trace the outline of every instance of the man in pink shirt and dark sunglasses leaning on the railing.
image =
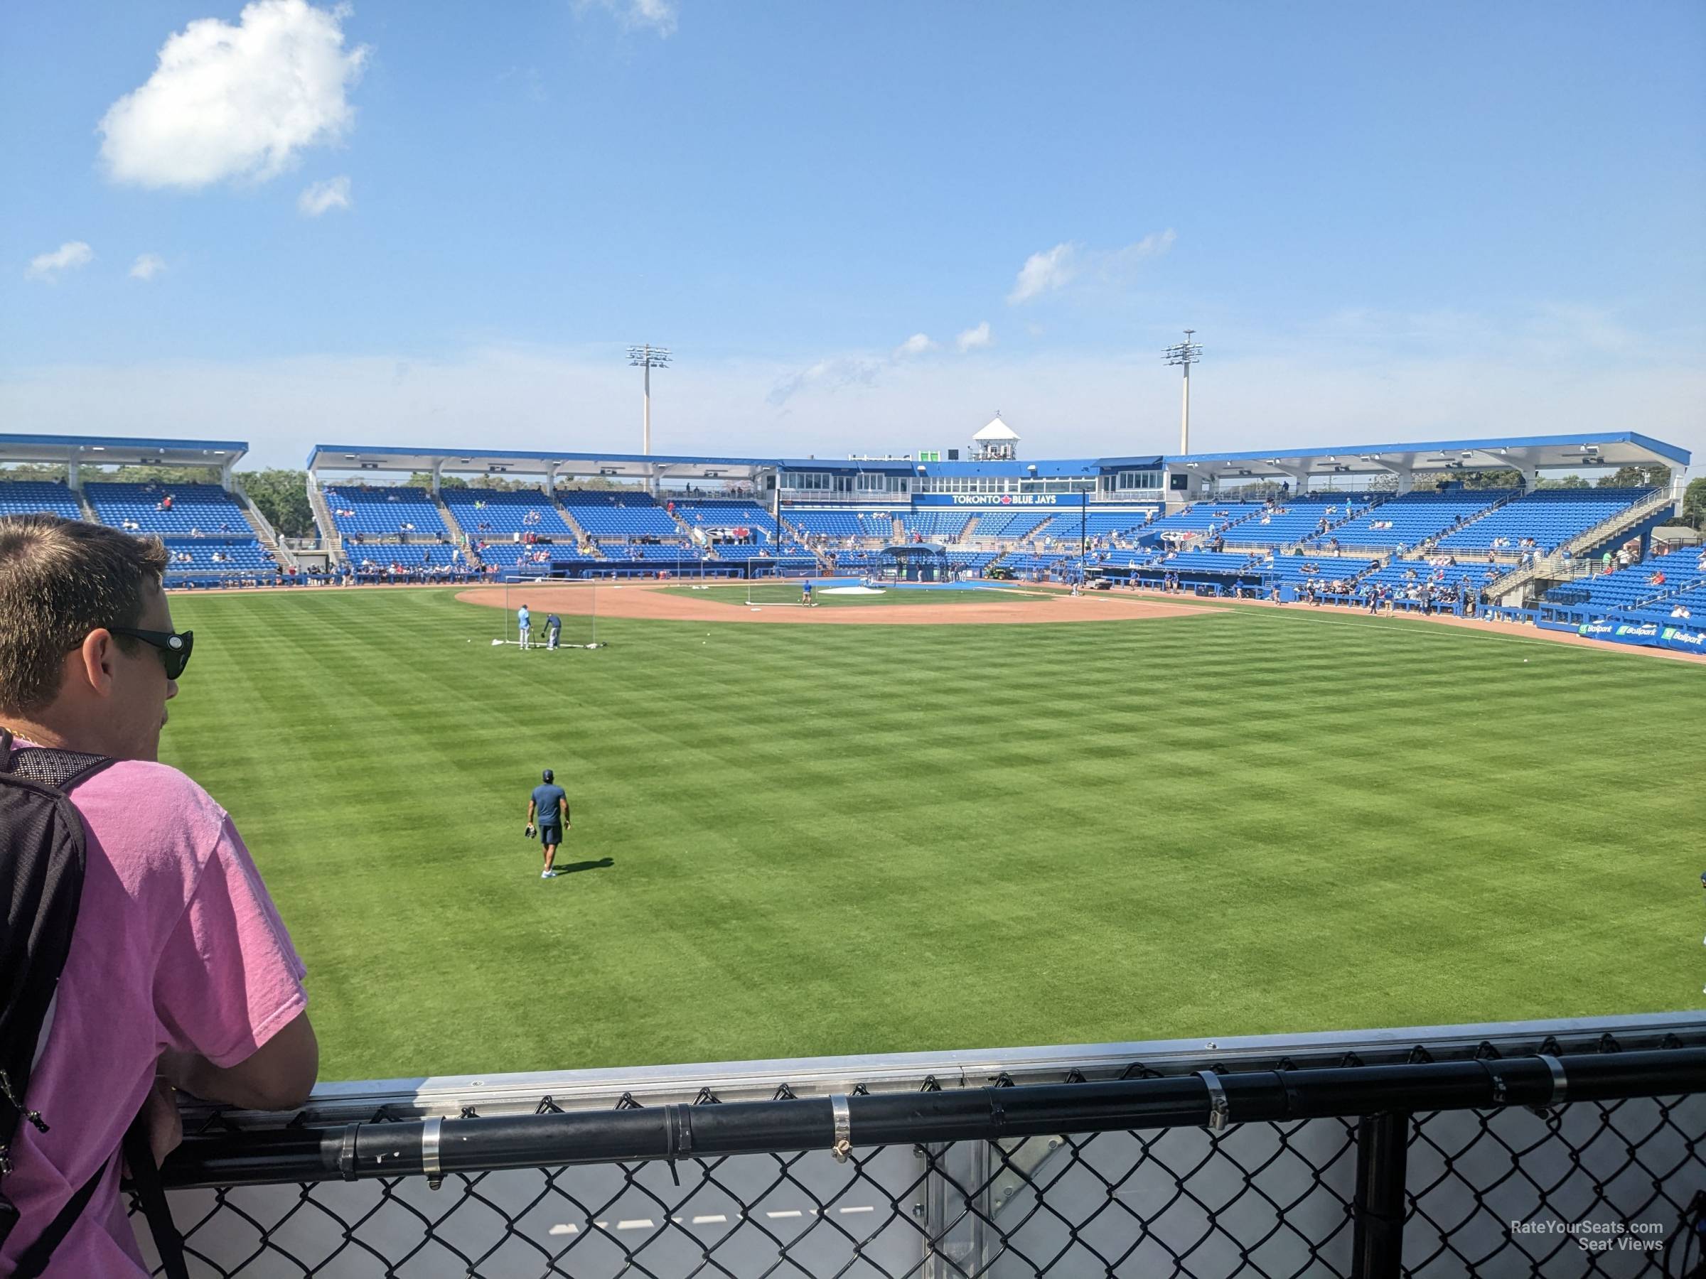
<path id="1" fill-rule="evenodd" d="M 155 1156 L 174 1088 L 302 1105 L 319 1069 L 302 960 L 230 817 L 155 762 L 189 636 L 172 643 L 157 539 L 56 517 L 0 518 L 0 728 L 15 747 L 109 755 L 73 786 L 87 830 L 77 929 L 0 1189 L 20 1218 L 0 1274 L 90 1178 L 46 1276 L 147 1276 L 116 1151 L 147 1105 Z M 5 761 L 0 761 L 0 767 Z M 157 1076 L 160 1076 L 157 1079 Z"/>

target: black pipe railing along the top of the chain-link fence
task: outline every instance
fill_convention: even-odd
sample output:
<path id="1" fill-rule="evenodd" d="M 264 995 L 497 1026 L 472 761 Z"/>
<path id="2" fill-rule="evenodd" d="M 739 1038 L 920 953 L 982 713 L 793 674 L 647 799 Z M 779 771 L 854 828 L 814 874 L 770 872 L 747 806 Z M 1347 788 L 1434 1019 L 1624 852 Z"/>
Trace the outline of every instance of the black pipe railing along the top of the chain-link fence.
<path id="1" fill-rule="evenodd" d="M 1215 1076 L 1218 1090 L 1204 1074 L 203 1134 L 162 1177 L 223 1187 L 829 1149 L 838 1103 L 853 1146 L 894 1146 L 1674 1097 L 1706 1091 L 1706 1049 L 1247 1071 Z"/>

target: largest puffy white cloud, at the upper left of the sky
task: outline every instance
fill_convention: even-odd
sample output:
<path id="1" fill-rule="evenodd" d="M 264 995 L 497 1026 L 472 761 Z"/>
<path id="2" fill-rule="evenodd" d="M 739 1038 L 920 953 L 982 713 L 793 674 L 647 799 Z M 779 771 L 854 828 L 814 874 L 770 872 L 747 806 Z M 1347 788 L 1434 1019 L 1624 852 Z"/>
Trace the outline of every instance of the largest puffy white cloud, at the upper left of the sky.
<path id="1" fill-rule="evenodd" d="M 196 19 L 160 46 L 147 84 L 101 118 L 114 182 L 198 189 L 285 172 L 355 126 L 348 90 L 367 48 L 345 49 L 348 7 L 254 0 L 237 26 Z"/>

